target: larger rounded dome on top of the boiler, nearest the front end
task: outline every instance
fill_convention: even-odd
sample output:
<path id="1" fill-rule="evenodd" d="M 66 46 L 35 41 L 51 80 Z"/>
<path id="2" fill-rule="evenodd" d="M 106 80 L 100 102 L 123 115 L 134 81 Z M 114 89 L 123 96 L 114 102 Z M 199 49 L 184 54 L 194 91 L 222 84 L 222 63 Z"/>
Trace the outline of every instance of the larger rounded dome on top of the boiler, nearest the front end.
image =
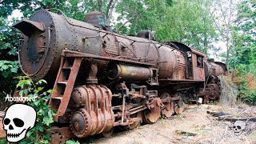
<path id="1" fill-rule="evenodd" d="M 86 14 L 85 22 L 97 26 L 106 25 L 106 16 L 100 11 L 92 11 Z"/>

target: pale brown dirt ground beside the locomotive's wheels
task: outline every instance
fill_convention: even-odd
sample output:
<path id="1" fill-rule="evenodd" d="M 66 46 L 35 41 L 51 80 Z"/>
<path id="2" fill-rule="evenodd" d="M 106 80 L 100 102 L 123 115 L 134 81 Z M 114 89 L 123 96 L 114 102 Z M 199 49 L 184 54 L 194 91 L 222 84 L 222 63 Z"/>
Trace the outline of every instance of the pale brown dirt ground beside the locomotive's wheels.
<path id="1" fill-rule="evenodd" d="M 235 135 L 234 122 L 219 121 L 216 117 L 206 114 L 208 110 L 232 114 L 256 114 L 255 107 L 246 105 L 234 108 L 215 105 L 186 106 L 186 110 L 181 115 L 174 115 L 168 119 L 160 118 L 154 124 L 139 126 L 134 130 L 115 132 L 110 138 L 92 137 L 90 142 L 106 144 L 256 143 L 256 122 L 246 122 L 246 130 L 242 131 L 242 134 Z"/>

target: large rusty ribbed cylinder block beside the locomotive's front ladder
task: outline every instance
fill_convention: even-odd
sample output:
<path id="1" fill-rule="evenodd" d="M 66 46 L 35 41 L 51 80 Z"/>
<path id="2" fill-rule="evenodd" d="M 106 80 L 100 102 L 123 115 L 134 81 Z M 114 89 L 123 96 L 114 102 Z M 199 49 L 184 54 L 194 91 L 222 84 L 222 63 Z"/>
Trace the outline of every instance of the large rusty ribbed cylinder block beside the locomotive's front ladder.
<path id="1" fill-rule="evenodd" d="M 70 118 L 70 129 L 78 138 L 109 131 L 114 126 L 111 108 L 111 91 L 106 86 L 78 86 L 72 93 L 71 102 L 84 106 L 74 111 Z"/>

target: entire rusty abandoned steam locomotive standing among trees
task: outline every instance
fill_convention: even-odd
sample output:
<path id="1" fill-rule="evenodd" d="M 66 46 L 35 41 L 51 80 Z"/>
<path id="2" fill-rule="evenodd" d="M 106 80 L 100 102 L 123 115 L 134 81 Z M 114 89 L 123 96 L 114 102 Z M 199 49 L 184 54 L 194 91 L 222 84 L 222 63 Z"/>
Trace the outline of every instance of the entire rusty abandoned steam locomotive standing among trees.
<path id="1" fill-rule="evenodd" d="M 38 10 L 14 25 L 24 38 L 19 62 L 30 78 L 52 82 L 49 106 L 53 139 L 111 134 L 182 112 L 182 102 L 218 100 L 221 62 L 181 42 L 156 42 L 142 30 L 137 37 L 116 34 L 92 12 L 86 22 L 60 10 Z"/>

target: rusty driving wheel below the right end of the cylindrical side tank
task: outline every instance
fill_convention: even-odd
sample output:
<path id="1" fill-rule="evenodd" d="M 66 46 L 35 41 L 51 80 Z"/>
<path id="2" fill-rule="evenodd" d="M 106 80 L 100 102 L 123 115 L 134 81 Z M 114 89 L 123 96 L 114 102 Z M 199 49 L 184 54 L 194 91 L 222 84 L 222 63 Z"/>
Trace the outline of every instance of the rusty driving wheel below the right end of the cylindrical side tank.
<path id="1" fill-rule="evenodd" d="M 142 114 L 143 122 L 146 124 L 157 122 L 161 116 L 160 102 L 158 99 L 154 99 L 153 105 L 154 107 L 150 108 L 150 110 L 144 110 Z"/>

